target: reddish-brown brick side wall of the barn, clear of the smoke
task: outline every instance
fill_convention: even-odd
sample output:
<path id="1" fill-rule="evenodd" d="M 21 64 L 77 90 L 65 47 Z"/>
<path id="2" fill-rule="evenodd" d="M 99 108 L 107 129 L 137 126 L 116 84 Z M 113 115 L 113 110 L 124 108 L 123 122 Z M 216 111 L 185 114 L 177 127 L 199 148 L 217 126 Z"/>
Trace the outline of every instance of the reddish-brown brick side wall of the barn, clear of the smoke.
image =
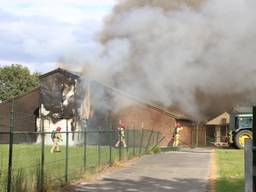
<path id="1" fill-rule="evenodd" d="M 167 146 L 172 139 L 173 129 L 176 119 L 168 114 L 151 108 L 146 105 L 134 103 L 134 105 L 122 108 L 119 111 L 120 119 L 123 119 L 128 128 L 140 129 L 142 122 L 144 129 L 159 131 L 161 138 L 165 139 L 160 143 L 161 146 Z M 196 125 L 191 121 L 177 120 L 182 126 L 181 146 L 195 146 L 196 144 Z M 199 126 L 198 129 L 198 145 L 205 146 L 205 127 Z"/>

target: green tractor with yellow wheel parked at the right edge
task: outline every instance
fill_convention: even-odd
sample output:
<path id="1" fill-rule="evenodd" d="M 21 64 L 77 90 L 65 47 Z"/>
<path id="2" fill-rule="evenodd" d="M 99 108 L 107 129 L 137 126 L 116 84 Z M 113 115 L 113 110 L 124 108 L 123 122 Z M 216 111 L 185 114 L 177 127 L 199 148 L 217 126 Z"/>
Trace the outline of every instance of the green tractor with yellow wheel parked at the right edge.
<path id="1" fill-rule="evenodd" d="M 253 114 L 249 112 L 232 112 L 230 114 L 229 144 L 242 149 L 246 139 L 252 139 Z"/>

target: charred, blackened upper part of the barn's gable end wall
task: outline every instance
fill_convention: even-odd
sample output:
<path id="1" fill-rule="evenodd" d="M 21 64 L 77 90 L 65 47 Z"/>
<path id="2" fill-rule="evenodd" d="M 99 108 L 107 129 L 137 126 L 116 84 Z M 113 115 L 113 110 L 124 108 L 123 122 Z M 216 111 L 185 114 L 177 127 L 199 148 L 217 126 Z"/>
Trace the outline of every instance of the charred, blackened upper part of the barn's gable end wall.
<path id="1" fill-rule="evenodd" d="M 54 121 L 71 119 L 75 116 L 78 79 L 77 75 L 62 69 L 40 77 L 41 102 L 47 111 L 47 116 Z"/>

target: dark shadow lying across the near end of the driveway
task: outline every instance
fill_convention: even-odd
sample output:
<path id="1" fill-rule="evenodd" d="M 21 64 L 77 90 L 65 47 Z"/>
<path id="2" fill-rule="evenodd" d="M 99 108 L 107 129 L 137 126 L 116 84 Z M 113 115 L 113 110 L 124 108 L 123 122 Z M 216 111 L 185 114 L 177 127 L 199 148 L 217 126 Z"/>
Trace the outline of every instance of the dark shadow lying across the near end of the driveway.
<path id="1" fill-rule="evenodd" d="M 198 189 L 206 191 L 207 183 L 198 179 L 163 180 L 142 177 L 137 181 L 105 178 L 100 184 L 83 185 L 63 192 L 198 192 Z"/>

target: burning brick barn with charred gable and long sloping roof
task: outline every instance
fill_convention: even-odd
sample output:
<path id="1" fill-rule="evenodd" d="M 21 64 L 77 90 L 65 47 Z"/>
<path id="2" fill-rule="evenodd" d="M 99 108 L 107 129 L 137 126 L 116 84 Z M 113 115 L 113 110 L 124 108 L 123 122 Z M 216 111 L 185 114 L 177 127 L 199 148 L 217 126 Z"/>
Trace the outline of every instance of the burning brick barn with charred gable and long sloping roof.
<path id="1" fill-rule="evenodd" d="M 12 108 L 13 130 L 19 133 L 14 143 L 39 143 L 38 135 L 45 132 L 46 144 L 50 144 L 50 132 L 62 127 L 63 131 L 74 132 L 69 141 L 76 145 L 82 142 L 77 132 L 85 127 L 115 129 L 122 119 L 127 129 L 160 132 L 162 146 L 168 145 L 174 125 L 179 122 L 184 127 L 181 145 L 206 145 L 205 128 L 188 117 L 61 68 L 41 75 L 38 88 L 0 103 L 0 143 L 8 143 Z"/>

